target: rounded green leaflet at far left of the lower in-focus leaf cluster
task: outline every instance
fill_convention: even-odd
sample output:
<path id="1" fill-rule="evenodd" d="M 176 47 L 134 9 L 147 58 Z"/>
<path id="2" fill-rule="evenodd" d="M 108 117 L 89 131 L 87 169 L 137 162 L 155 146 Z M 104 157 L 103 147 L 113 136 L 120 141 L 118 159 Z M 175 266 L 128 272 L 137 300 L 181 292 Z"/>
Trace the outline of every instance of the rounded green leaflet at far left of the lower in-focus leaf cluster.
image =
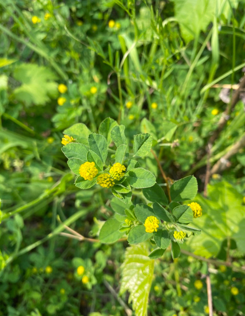
<path id="1" fill-rule="evenodd" d="M 109 218 L 100 230 L 99 239 L 102 243 L 111 244 L 119 240 L 124 233 L 119 231 L 121 223 L 115 218 Z"/>

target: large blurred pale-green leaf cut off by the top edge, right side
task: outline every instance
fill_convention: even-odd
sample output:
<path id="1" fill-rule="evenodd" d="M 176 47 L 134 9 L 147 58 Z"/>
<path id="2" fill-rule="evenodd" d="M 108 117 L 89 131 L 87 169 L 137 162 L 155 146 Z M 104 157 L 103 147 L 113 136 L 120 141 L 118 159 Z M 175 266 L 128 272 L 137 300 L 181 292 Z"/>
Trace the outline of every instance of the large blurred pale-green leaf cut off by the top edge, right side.
<path id="1" fill-rule="evenodd" d="M 205 32 L 208 24 L 213 21 L 215 1 L 172 1 L 174 2 L 175 18 L 178 20 L 182 36 L 187 42 L 199 36 L 201 31 Z"/>

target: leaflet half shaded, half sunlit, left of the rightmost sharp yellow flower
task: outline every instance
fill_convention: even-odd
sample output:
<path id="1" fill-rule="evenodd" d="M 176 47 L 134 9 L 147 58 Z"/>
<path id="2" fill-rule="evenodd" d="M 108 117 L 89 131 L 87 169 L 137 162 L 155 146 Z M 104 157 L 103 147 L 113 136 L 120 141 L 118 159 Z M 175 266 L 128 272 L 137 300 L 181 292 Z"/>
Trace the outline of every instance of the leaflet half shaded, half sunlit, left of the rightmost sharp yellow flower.
<path id="1" fill-rule="evenodd" d="M 194 176 L 188 176 L 175 181 L 170 187 L 172 201 L 181 202 L 193 199 L 197 193 L 197 181 Z"/>

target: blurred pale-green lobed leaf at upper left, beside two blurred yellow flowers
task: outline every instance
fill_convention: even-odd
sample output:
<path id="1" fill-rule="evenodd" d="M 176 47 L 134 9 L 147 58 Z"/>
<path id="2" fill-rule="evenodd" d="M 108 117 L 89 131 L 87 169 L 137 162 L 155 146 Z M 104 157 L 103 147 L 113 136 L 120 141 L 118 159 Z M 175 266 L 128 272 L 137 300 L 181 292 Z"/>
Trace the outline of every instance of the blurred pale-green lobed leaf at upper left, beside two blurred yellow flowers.
<path id="1" fill-rule="evenodd" d="M 21 85 L 15 88 L 13 94 L 26 106 L 45 105 L 50 98 L 58 96 L 56 76 L 48 67 L 21 64 L 15 67 L 14 77 Z"/>

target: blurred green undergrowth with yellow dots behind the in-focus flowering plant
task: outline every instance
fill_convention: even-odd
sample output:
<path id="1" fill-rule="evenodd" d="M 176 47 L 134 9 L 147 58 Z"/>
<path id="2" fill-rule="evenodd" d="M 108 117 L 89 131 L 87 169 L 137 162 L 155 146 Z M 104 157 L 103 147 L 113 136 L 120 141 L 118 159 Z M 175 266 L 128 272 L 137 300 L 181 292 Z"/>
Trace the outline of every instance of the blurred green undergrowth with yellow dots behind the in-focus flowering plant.
<path id="1" fill-rule="evenodd" d="M 91 244 L 58 235 L 62 221 L 96 238 L 112 214 L 107 191 L 73 185 L 61 152 L 64 129 L 82 122 L 97 132 L 107 117 L 126 126 L 131 144 L 135 134 L 152 134 L 170 179 L 194 173 L 203 233 L 185 249 L 237 265 L 213 265 L 214 311 L 245 314 L 244 141 L 224 170 L 211 175 L 208 197 L 202 195 L 207 162 L 212 167 L 244 139 L 244 96 L 232 107 L 234 92 L 223 86 L 244 75 L 244 4 L 0 3 L 0 315 L 125 315 L 108 284 L 119 291 L 127 242 Z M 227 122 L 208 152 L 224 112 Z M 139 162 L 162 182 L 152 154 Z M 134 193 L 137 203 L 142 197 Z M 149 315 L 207 314 L 207 264 L 184 254 L 171 262 L 166 251 L 155 263 Z"/>

